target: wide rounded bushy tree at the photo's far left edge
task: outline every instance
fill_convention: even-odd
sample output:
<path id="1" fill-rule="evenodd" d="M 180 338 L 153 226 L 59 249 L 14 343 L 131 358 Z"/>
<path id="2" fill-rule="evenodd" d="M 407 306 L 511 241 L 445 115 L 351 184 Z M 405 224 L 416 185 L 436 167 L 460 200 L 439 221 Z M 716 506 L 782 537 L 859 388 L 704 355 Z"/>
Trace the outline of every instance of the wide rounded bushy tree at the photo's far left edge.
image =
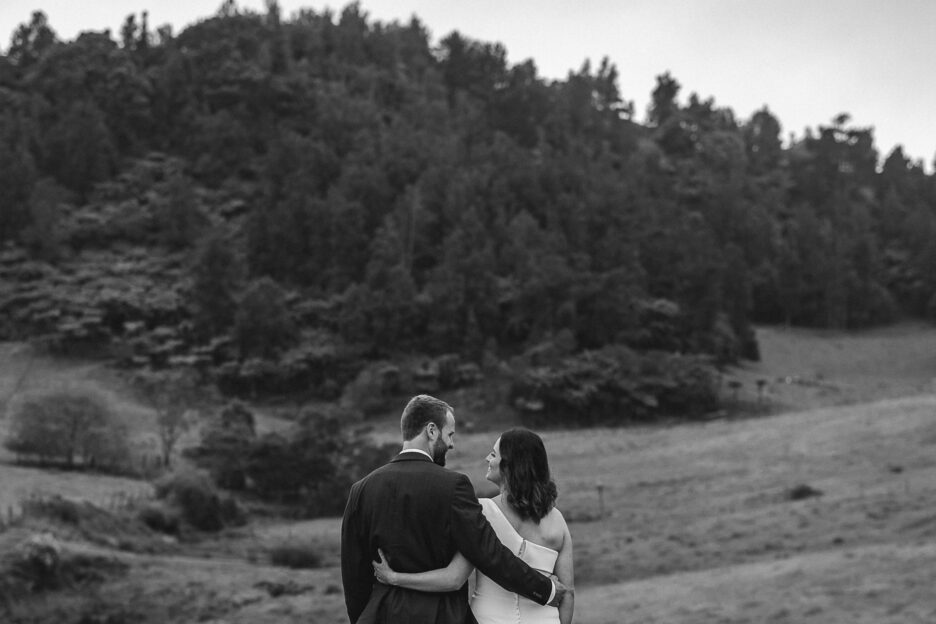
<path id="1" fill-rule="evenodd" d="M 13 406 L 5 446 L 41 463 L 117 469 L 129 458 L 127 428 L 112 402 L 92 388 L 66 388 L 24 397 Z"/>

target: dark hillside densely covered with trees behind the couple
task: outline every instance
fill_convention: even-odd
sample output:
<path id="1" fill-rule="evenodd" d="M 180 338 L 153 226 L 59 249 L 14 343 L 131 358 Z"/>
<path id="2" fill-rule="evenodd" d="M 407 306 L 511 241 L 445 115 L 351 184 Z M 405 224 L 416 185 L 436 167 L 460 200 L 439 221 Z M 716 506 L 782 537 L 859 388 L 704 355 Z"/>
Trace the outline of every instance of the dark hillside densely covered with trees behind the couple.
<path id="1" fill-rule="evenodd" d="M 521 390 L 691 385 L 752 323 L 936 316 L 936 180 L 872 129 L 786 142 L 668 73 L 644 112 L 612 60 L 506 59 L 356 4 L 70 42 L 35 13 L 0 56 L 0 338 L 334 396 L 544 344 Z"/>

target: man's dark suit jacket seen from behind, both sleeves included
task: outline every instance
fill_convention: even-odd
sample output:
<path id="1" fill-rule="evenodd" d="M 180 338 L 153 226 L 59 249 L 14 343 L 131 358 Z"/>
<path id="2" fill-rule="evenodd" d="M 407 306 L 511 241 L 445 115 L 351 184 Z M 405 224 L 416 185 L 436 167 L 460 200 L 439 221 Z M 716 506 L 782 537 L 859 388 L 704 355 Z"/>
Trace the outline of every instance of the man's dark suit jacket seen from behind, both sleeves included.
<path id="1" fill-rule="evenodd" d="M 371 561 L 383 549 L 399 572 L 444 568 L 461 552 L 509 591 L 540 604 L 552 582 L 507 549 L 481 511 L 468 477 L 421 453 L 401 453 L 353 486 L 341 524 L 341 578 L 352 624 L 462 624 L 468 584 L 424 593 L 377 584 Z"/>

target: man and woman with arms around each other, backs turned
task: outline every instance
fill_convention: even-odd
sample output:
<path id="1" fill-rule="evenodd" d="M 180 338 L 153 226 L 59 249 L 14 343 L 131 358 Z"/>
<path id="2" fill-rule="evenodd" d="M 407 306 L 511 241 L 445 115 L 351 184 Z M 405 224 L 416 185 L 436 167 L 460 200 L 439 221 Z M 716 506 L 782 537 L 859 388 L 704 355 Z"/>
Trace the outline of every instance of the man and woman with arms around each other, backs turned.
<path id="1" fill-rule="evenodd" d="M 505 432 L 487 456 L 500 495 L 446 470 L 455 413 L 413 397 L 403 450 L 351 487 L 341 575 L 351 624 L 570 624 L 572 538 L 538 435 Z M 469 581 L 473 586 L 469 603 Z"/>

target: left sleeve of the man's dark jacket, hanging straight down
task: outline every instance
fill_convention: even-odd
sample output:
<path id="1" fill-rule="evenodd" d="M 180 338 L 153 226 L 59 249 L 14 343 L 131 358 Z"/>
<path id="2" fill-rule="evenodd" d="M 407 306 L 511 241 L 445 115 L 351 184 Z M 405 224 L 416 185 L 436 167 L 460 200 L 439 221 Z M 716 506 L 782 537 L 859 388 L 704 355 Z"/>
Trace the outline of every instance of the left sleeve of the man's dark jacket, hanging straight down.
<path id="1" fill-rule="evenodd" d="M 374 571 L 368 539 L 358 509 L 360 483 L 351 488 L 341 521 L 341 582 L 351 624 L 357 622 L 373 589 Z"/>

